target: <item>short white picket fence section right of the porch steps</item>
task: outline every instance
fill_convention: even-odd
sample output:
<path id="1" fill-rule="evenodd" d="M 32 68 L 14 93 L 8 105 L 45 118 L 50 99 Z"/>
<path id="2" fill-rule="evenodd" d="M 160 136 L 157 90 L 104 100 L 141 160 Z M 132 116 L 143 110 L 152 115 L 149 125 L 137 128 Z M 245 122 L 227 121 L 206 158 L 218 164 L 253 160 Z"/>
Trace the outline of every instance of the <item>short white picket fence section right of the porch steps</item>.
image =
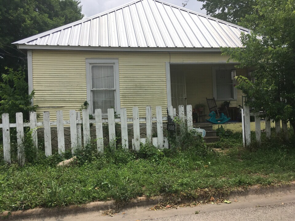
<path id="1" fill-rule="evenodd" d="M 261 144 L 261 117 L 260 112 L 255 112 L 254 114 L 250 114 L 250 107 L 245 106 L 244 109 L 242 109 L 242 133 L 243 133 L 243 145 L 248 146 L 251 144 L 251 128 L 250 128 L 250 115 L 255 116 L 255 135 L 256 135 L 256 141 L 258 144 Z M 270 138 L 271 131 L 270 131 L 270 119 L 265 118 L 265 133 L 266 137 Z M 275 121 L 275 127 L 276 127 L 276 134 L 279 135 L 281 133 L 281 121 L 277 120 Z M 288 140 L 288 126 L 287 122 L 282 121 L 282 130 L 285 136 L 285 140 Z"/>

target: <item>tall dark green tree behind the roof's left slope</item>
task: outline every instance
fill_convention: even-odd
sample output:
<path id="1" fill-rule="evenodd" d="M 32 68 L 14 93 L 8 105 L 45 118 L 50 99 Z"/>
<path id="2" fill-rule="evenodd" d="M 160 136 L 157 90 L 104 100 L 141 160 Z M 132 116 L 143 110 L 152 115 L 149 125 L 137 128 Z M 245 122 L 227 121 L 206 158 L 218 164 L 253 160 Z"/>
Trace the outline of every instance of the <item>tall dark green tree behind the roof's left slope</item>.
<path id="1" fill-rule="evenodd" d="M 12 42 L 80 20 L 80 0 L 0 0 L 0 73 L 26 64 Z"/>

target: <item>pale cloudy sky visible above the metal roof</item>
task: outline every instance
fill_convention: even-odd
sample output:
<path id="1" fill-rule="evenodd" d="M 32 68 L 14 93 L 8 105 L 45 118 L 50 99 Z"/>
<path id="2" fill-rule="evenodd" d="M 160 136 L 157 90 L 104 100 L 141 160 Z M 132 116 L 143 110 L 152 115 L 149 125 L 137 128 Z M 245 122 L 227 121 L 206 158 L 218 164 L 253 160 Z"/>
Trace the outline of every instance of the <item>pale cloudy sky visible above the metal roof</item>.
<path id="1" fill-rule="evenodd" d="M 81 0 L 82 13 L 85 17 L 90 17 L 100 12 L 124 5 L 132 0 Z M 181 6 L 184 0 L 163 0 L 163 2 L 171 3 L 173 5 Z M 202 2 L 196 0 L 190 0 L 185 8 L 206 14 L 206 10 L 201 10 Z"/>

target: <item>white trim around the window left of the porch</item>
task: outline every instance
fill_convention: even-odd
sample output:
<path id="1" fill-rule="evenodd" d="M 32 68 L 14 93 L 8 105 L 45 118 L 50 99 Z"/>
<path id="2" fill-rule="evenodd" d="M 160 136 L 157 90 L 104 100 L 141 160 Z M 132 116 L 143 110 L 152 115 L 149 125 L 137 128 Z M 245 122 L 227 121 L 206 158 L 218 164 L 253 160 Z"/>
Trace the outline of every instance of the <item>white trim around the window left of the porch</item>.
<path id="1" fill-rule="evenodd" d="M 89 103 L 89 114 L 93 113 L 93 103 L 91 97 L 91 65 L 113 64 L 114 65 L 114 87 L 115 87 L 115 111 L 120 114 L 120 84 L 119 84 L 119 59 L 100 59 L 100 58 L 86 58 L 86 91 L 87 102 Z"/>

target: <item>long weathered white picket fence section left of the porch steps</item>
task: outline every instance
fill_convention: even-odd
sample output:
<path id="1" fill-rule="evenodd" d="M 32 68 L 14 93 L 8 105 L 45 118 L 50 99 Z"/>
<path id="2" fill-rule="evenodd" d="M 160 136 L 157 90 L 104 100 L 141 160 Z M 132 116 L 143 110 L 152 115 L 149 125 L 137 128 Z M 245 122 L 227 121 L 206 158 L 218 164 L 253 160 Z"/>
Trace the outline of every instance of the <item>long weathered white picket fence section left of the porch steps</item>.
<path id="1" fill-rule="evenodd" d="M 187 129 L 192 130 L 192 107 L 187 105 L 187 116 L 184 114 L 184 106 L 178 107 L 179 118 L 187 122 Z M 172 106 L 167 107 L 169 116 L 173 119 L 176 116 L 175 109 Z M 82 148 L 82 133 L 81 124 L 83 125 L 83 143 L 84 146 L 90 143 L 90 124 L 95 124 L 96 128 L 96 145 L 97 151 L 102 153 L 104 151 L 104 138 L 103 138 L 103 123 L 108 123 L 109 144 L 112 148 L 116 147 L 116 130 L 115 123 L 119 122 L 121 126 L 121 138 L 122 146 L 125 149 L 129 149 L 128 146 L 128 122 L 133 122 L 133 137 L 132 149 L 138 151 L 140 149 L 140 143 L 148 142 L 157 146 L 159 149 L 168 148 L 168 140 L 163 136 L 163 121 L 167 121 L 167 117 L 162 116 L 162 107 L 156 107 L 156 117 L 152 117 L 151 106 L 146 107 L 146 117 L 139 117 L 138 107 L 133 107 L 132 118 L 127 118 L 126 108 L 120 109 L 120 118 L 115 118 L 114 109 L 108 109 L 108 118 L 102 118 L 101 109 L 95 110 L 95 119 L 89 119 L 89 112 L 87 109 L 82 110 L 82 119 L 80 112 L 75 110 L 69 111 L 69 120 L 63 120 L 63 112 L 56 112 L 56 121 L 50 121 L 49 111 L 43 112 L 43 122 L 37 122 L 36 112 L 30 112 L 29 122 L 23 122 L 23 114 L 16 113 L 16 123 L 9 123 L 9 114 L 2 114 L 2 128 L 3 133 L 3 153 L 4 160 L 7 163 L 11 163 L 10 154 L 10 128 L 16 127 L 17 130 L 17 145 L 18 145 L 18 162 L 20 165 L 25 163 L 24 154 L 24 127 L 30 127 L 32 130 L 33 144 L 38 147 L 37 128 L 44 127 L 44 146 L 45 155 L 48 157 L 52 155 L 51 146 L 51 126 L 57 127 L 57 141 L 58 141 L 58 153 L 65 152 L 65 136 L 64 125 L 70 126 L 71 136 L 71 149 L 72 153 L 78 148 Z M 146 122 L 146 138 L 140 138 L 140 122 Z M 157 137 L 152 137 L 152 122 L 157 123 Z"/>

